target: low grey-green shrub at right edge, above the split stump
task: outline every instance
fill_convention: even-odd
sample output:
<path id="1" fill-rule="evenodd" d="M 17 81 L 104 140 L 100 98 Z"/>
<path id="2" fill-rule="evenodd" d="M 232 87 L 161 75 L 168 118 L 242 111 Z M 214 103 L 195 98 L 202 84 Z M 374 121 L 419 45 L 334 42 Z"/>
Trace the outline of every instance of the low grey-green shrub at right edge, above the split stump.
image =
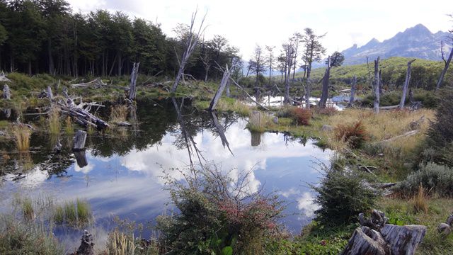
<path id="1" fill-rule="evenodd" d="M 453 196 L 453 169 L 435 163 L 421 164 L 420 169 L 407 176 L 394 188 L 402 196 L 414 196 L 420 188 L 437 193 L 438 196 Z"/>

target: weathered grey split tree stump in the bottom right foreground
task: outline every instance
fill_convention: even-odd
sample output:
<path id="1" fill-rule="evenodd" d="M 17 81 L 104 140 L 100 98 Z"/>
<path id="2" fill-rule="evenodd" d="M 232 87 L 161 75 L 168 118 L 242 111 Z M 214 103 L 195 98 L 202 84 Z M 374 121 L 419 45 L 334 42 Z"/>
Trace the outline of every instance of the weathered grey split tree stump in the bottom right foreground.
<path id="1" fill-rule="evenodd" d="M 369 220 L 359 215 L 357 227 L 341 254 L 411 255 L 426 234 L 423 225 L 397 226 L 386 224 L 384 212 L 373 210 Z"/>

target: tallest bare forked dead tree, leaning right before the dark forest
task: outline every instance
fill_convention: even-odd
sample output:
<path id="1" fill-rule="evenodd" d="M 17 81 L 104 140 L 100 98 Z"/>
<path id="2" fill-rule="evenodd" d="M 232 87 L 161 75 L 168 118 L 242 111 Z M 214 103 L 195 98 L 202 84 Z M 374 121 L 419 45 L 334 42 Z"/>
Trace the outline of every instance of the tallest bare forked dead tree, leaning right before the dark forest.
<path id="1" fill-rule="evenodd" d="M 202 18 L 200 28 L 198 28 L 197 33 L 195 33 L 195 30 L 194 30 L 196 17 L 197 17 L 197 11 L 195 11 L 195 13 L 192 14 L 192 18 L 190 20 L 190 29 L 188 32 L 187 41 L 185 42 L 185 50 L 183 52 L 183 56 L 179 60 L 180 61 L 179 70 L 178 70 L 178 74 L 176 75 L 175 82 L 173 83 L 173 86 L 171 87 L 171 93 L 175 93 L 176 89 L 178 89 L 178 83 L 184 74 L 185 64 L 187 64 L 187 62 L 190 58 L 190 55 L 192 55 L 193 51 L 195 50 L 195 47 L 197 47 L 197 43 L 200 40 L 200 35 L 205 31 L 205 28 L 203 28 L 203 23 L 205 23 L 206 14 Z"/>

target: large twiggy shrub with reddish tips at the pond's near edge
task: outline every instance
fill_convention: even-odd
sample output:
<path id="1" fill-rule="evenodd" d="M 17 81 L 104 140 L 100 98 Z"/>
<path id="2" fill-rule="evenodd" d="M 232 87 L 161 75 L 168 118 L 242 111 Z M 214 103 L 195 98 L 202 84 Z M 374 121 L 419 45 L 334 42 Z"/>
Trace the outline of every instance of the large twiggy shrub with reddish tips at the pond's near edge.
<path id="1" fill-rule="evenodd" d="M 263 254 L 263 240 L 279 230 L 277 197 L 251 192 L 250 172 L 237 180 L 215 165 L 182 172 L 184 182 L 166 176 L 179 213 L 157 219 L 161 243 L 171 254 Z"/>

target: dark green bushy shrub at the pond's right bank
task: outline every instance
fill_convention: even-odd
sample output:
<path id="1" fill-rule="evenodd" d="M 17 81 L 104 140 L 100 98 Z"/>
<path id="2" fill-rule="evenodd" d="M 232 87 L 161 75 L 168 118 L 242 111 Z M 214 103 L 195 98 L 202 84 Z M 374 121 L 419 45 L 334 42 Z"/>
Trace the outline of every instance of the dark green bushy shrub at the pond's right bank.
<path id="1" fill-rule="evenodd" d="M 322 225 L 343 225 L 373 208 L 379 193 L 367 186 L 362 173 L 332 166 L 321 164 L 323 178 L 319 185 L 311 185 L 318 193 L 314 202 L 321 206 L 315 211 L 316 220 Z"/>

